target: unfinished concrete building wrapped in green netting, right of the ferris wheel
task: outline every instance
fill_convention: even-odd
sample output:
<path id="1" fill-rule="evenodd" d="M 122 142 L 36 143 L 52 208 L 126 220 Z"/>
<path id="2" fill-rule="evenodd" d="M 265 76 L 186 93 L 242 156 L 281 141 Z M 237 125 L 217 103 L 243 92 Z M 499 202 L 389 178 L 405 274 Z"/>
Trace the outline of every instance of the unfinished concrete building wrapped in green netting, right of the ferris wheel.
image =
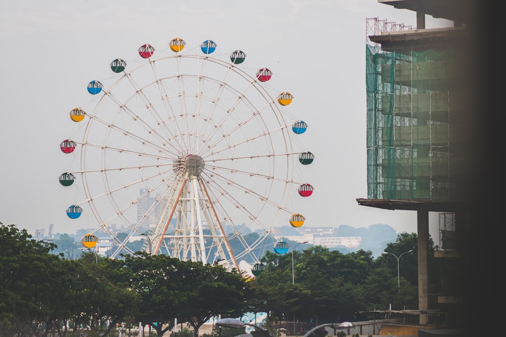
<path id="1" fill-rule="evenodd" d="M 478 20 L 471 0 L 378 3 L 412 11 L 416 27 L 367 19 L 367 199 L 357 202 L 417 212 L 418 308 L 413 309 L 421 312 L 421 326 L 431 323 L 424 311 L 441 309 L 446 327 L 462 328 L 474 301 L 464 253 L 477 230 L 485 230 L 477 222 L 483 196 L 476 186 L 486 164 L 480 162 L 484 152 L 478 152 L 483 125 L 474 122 L 483 112 L 476 107 L 484 84 L 474 81 Z M 426 15 L 454 24 L 426 27 Z M 429 284 L 429 212 L 440 214 L 439 284 Z"/>

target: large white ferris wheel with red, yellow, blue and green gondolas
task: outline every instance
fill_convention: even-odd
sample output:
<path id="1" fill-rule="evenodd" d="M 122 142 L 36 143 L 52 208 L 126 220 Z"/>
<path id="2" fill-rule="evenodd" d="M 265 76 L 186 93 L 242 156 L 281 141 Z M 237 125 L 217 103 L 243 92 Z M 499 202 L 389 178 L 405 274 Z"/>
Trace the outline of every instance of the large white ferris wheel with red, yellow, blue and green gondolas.
<path id="1" fill-rule="evenodd" d="M 135 254 L 128 244 L 143 235 L 151 254 L 239 271 L 273 242 L 286 252 L 275 228 L 305 221 L 288 207 L 313 192 L 298 177 L 314 155 L 299 145 L 308 125 L 288 112 L 293 95 L 269 92 L 272 71 L 245 67 L 243 51 L 220 59 L 216 49 L 144 44 L 133 60 L 112 60 L 108 78 L 89 82 L 89 106 L 70 111 L 79 136 L 60 148 L 80 167 L 59 180 L 80 180 L 83 197 L 66 213 L 96 219 L 86 240 L 107 234 L 112 258 Z"/>

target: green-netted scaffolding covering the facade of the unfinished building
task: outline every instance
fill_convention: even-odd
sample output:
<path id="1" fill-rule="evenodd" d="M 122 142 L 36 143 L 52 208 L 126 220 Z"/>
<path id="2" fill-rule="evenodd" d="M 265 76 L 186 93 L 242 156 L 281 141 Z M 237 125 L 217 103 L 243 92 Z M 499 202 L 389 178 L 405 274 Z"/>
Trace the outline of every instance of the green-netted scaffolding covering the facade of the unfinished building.
<path id="1" fill-rule="evenodd" d="M 367 19 L 367 36 L 410 26 Z M 366 43 L 367 198 L 456 201 L 462 55 Z"/>

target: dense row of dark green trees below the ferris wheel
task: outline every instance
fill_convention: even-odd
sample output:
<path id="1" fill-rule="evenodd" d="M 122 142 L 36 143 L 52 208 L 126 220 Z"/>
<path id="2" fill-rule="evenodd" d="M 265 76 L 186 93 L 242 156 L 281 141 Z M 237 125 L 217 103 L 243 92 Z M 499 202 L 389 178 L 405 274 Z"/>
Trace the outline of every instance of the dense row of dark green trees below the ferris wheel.
<path id="1" fill-rule="evenodd" d="M 126 331 L 141 323 L 161 336 L 177 319 L 198 336 L 199 327 L 218 315 L 268 312 L 276 324 L 296 313 L 297 320 L 316 325 L 367 319 L 359 312 L 390 304 L 416 309 L 415 245 L 416 234 L 401 234 L 387 247 L 397 255 L 415 250 L 402 257 L 399 287 L 393 256 L 373 259 L 370 252 L 345 255 L 321 246 L 284 255 L 268 252 L 262 259 L 266 270 L 249 280 L 221 266 L 144 252 L 110 259 L 85 251 L 68 259 L 52 253 L 54 243 L 2 225 L 0 331 L 106 336 L 117 335 L 119 326 Z"/>

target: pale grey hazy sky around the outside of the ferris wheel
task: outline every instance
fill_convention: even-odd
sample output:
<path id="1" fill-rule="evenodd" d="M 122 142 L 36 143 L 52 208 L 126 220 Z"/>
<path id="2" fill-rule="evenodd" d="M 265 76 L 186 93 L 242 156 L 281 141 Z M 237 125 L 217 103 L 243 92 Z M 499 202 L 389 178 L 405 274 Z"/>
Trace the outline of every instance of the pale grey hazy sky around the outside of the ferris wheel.
<path id="1" fill-rule="evenodd" d="M 416 26 L 415 13 L 375 0 L 0 2 L 0 222 L 32 234 L 50 224 L 63 233 L 81 227 L 65 214 L 72 201 L 58 182 L 68 167 L 59 149 L 70 135 L 68 113 L 89 100 L 86 85 L 113 59 L 181 37 L 193 46 L 213 39 L 224 54 L 243 50 L 294 95 L 316 156 L 305 174 L 315 187 L 305 226 L 416 232 L 416 212 L 356 202 L 367 198 L 365 30 L 374 17 Z M 448 22 L 428 17 L 426 25 Z M 433 220 L 437 214 L 437 243 Z"/>

